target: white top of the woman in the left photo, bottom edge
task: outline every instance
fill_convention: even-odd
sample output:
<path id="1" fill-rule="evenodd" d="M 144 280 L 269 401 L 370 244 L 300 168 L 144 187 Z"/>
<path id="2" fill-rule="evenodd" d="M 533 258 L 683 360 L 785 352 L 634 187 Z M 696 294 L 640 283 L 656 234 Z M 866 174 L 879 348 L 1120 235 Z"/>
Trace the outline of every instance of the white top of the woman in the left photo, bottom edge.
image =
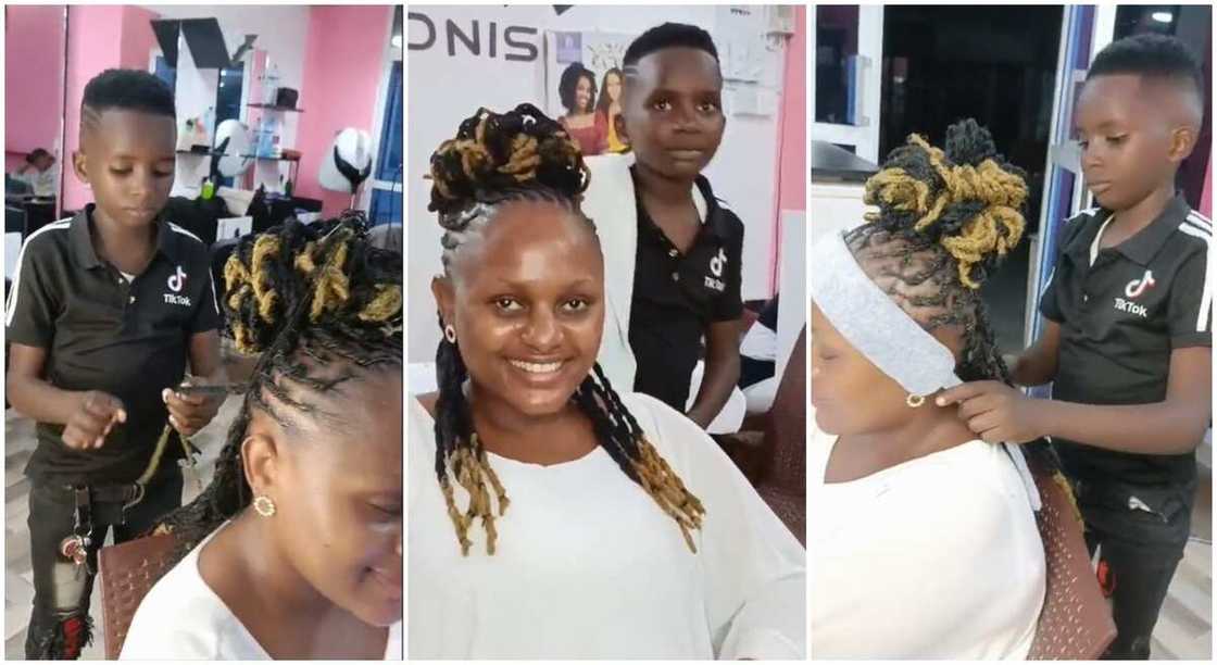
<path id="1" fill-rule="evenodd" d="M 190 551 L 144 597 L 135 610 L 119 659 L 271 659 L 198 571 L 198 553 L 220 529 Z M 400 621 L 389 627 L 385 660 L 402 660 Z"/>

